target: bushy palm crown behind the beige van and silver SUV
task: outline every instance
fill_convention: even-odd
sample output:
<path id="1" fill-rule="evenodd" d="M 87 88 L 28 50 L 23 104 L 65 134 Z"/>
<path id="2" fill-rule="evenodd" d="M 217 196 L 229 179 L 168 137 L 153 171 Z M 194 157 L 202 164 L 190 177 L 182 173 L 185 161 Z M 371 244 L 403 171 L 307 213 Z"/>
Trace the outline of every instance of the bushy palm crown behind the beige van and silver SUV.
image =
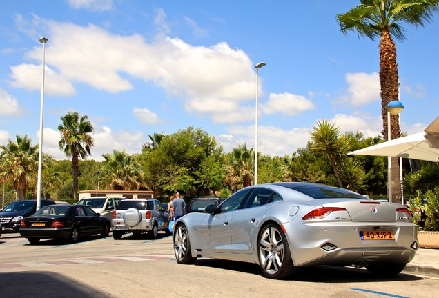
<path id="1" fill-rule="evenodd" d="M 113 150 L 106 153 L 104 168 L 111 177 L 111 189 L 113 190 L 139 190 L 144 186 L 142 166 L 135 157 L 125 151 Z"/>

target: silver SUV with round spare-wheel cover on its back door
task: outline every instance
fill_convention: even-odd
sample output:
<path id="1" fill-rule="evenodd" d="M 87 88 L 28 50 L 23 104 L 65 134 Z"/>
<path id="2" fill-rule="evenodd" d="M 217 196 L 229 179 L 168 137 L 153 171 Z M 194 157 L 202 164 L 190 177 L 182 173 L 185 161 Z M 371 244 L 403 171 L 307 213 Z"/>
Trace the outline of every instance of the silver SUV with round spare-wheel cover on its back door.
<path id="1" fill-rule="evenodd" d="M 134 235 L 148 233 L 151 239 L 157 238 L 157 232 L 168 230 L 170 215 L 157 199 L 124 199 L 113 212 L 111 228 L 113 238 L 132 232 Z"/>

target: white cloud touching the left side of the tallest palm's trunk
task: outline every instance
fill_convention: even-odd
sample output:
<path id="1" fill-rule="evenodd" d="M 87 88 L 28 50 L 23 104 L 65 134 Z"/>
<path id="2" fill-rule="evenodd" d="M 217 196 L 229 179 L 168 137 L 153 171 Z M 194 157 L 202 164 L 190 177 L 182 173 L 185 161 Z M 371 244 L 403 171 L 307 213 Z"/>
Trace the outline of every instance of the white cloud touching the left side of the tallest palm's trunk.
<path id="1" fill-rule="evenodd" d="M 354 107 L 364 106 L 373 101 L 380 101 L 380 77 L 378 73 L 348 73 L 345 76 L 348 84 L 347 92 L 341 103 L 349 103 Z"/>

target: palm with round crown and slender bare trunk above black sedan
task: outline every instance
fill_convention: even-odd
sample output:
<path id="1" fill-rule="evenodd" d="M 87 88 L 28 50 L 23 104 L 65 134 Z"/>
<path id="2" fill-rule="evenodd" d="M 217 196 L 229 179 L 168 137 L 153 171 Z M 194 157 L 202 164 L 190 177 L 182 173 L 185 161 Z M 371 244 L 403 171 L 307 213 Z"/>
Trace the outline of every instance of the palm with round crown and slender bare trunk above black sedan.
<path id="1" fill-rule="evenodd" d="M 93 139 L 90 135 L 95 129 L 87 116 L 79 117 L 78 112 L 68 112 L 61 117 L 62 124 L 58 126 L 61 132 L 61 139 L 58 142 L 59 148 L 66 153 L 67 157 L 72 157 L 72 176 L 73 176 L 73 199 L 77 199 L 78 175 L 79 175 L 79 156 L 86 159 L 91 155 L 90 147 L 93 146 Z"/>

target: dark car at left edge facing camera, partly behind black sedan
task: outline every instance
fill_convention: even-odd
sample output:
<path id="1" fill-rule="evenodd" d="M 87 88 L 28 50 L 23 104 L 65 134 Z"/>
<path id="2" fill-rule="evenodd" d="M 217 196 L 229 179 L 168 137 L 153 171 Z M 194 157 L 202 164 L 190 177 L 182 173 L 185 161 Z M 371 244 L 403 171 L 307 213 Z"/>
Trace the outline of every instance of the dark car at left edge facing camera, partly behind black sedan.
<path id="1" fill-rule="evenodd" d="M 55 201 L 41 199 L 40 208 L 54 204 Z M 0 212 L 0 221 L 3 230 L 18 232 L 21 219 L 32 215 L 37 210 L 37 200 L 13 201 Z"/>

